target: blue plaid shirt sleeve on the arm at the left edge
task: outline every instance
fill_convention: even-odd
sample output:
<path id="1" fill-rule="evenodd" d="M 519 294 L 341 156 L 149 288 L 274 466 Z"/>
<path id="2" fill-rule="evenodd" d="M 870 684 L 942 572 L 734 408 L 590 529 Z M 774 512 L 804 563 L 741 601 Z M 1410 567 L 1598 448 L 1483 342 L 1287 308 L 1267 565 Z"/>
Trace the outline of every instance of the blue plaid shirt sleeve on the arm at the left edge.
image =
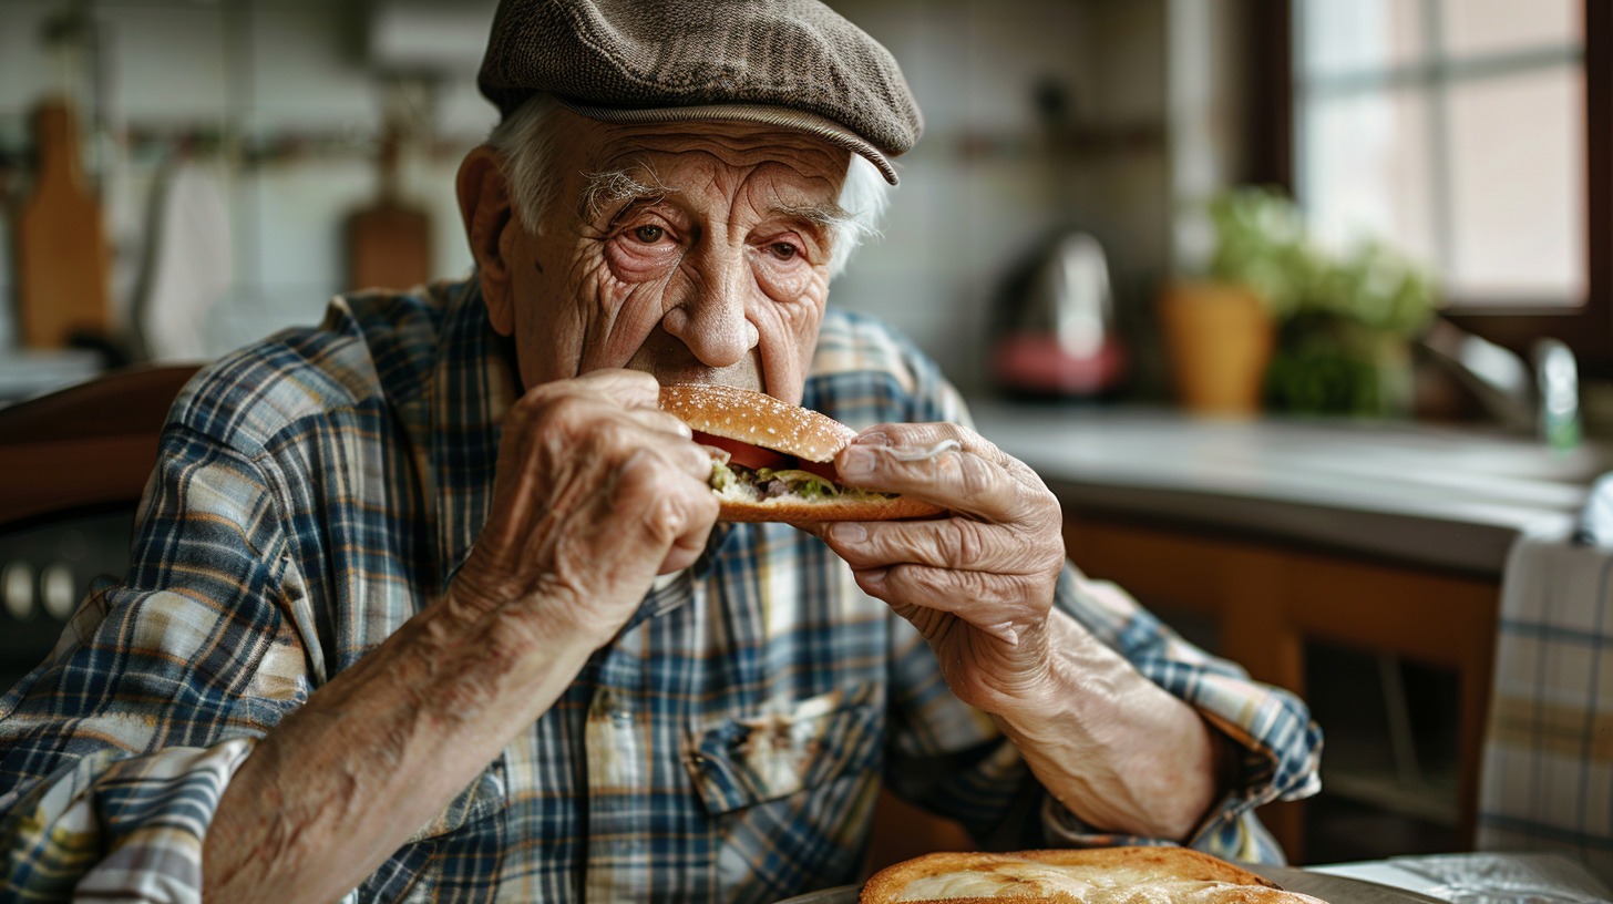
<path id="1" fill-rule="evenodd" d="M 127 576 L 0 697 L 0 901 L 200 901 L 231 776 L 306 697 L 253 460 L 179 425 L 158 460 Z"/>

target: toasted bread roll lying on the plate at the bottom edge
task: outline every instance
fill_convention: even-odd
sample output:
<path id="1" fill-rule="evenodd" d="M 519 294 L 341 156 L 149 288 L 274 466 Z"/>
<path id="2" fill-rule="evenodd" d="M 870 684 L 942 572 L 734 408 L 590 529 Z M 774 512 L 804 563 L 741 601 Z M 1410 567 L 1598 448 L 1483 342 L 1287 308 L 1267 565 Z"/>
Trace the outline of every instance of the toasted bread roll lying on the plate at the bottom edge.
<path id="1" fill-rule="evenodd" d="M 886 867 L 858 904 L 1326 904 L 1187 848 L 926 854 Z"/>

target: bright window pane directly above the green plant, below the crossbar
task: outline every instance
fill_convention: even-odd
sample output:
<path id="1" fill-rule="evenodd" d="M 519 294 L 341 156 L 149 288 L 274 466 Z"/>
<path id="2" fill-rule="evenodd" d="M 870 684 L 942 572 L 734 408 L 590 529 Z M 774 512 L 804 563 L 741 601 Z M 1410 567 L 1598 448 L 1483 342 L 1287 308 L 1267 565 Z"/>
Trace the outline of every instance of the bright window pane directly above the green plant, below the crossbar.
<path id="1" fill-rule="evenodd" d="M 1300 202 L 1331 247 L 1381 241 L 1432 268 L 1428 92 L 1318 98 L 1302 121 Z"/>

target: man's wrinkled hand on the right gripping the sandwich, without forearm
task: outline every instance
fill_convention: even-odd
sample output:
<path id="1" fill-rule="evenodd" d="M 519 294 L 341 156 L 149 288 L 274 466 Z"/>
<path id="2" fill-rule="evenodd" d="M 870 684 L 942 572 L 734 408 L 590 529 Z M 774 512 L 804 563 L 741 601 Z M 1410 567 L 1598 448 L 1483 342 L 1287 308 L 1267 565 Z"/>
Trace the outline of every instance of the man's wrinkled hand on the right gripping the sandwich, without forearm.
<path id="1" fill-rule="evenodd" d="M 810 526 L 865 592 L 929 641 L 952 693 L 986 712 L 1048 681 L 1047 620 L 1065 562 L 1058 500 L 1023 462 L 957 425 L 881 425 L 836 458 L 848 484 L 948 508 L 924 521 Z"/>

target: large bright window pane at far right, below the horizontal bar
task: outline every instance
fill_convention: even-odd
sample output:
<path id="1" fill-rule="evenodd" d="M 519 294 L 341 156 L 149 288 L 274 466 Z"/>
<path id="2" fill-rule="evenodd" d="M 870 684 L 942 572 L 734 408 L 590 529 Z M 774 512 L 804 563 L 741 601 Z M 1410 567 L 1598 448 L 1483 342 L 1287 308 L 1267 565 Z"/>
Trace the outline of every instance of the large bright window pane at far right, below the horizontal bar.
<path id="1" fill-rule="evenodd" d="M 1581 303 L 1584 73 L 1561 66 L 1450 87 L 1452 270 L 1461 299 Z"/>

